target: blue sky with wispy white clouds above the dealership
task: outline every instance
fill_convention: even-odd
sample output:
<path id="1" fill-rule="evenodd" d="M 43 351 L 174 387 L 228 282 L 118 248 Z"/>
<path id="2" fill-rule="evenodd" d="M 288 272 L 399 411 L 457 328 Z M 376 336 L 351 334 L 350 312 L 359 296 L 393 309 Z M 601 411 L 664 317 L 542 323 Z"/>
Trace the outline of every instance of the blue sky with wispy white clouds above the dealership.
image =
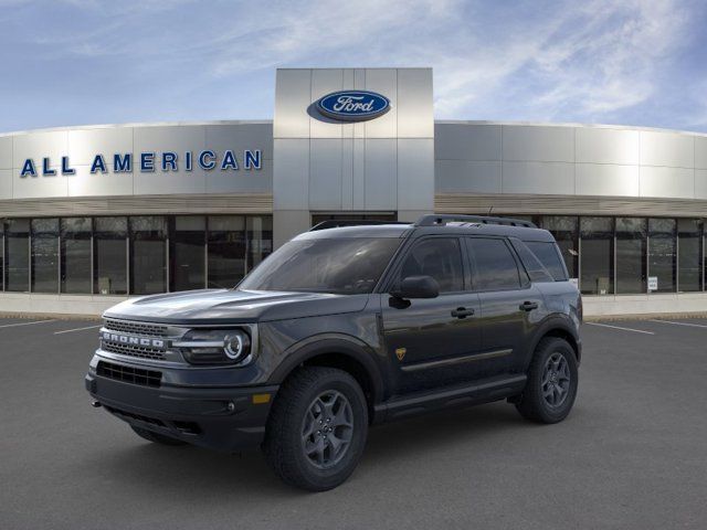
<path id="1" fill-rule="evenodd" d="M 437 119 L 707 131 L 706 22 L 689 0 L 0 0 L 0 131 L 271 119 L 281 66 L 432 66 Z"/>

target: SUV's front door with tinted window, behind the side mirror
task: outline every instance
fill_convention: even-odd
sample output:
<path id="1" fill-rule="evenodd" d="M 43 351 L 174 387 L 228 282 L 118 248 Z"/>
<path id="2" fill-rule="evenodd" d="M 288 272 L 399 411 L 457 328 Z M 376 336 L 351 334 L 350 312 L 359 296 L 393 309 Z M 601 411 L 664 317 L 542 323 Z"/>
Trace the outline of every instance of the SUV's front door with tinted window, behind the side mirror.
<path id="1" fill-rule="evenodd" d="M 460 240 L 418 240 L 400 261 L 390 285 L 419 275 L 437 282 L 439 297 L 400 300 L 381 295 L 383 336 L 394 367 L 397 393 L 471 379 L 468 357 L 481 348 L 475 318 L 479 301 L 467 289 Z"/>

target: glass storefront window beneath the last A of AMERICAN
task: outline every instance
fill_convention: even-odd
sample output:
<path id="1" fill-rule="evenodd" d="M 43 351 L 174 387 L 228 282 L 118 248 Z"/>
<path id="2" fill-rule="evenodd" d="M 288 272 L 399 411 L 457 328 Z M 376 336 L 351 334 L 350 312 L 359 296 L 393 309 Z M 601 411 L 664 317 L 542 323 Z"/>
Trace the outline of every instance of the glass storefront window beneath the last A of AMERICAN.
<path id="1" fill-rule="evenodd" d="M 231 288 L 245 274 L 245 218 L 209 218 L 209 287 Z"/>

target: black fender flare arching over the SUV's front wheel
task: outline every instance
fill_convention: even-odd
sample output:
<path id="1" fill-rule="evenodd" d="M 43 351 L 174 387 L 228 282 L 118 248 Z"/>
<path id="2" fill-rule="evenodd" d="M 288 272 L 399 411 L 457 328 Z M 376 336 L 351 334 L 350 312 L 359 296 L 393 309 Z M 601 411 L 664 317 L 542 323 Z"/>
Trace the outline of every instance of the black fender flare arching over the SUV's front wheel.
<path id="1" fill-rule="evenodd" d="M 283 352 L 283 361 L 271 374 L 268 383 L 282 384 L 299 364 L 326 353 L 338 353 L 358 362 L 371 383 L 373 403 L 383 399 L 383 374 L 373 348 L 350 335 L 320 333 L 292 344 Z"/>

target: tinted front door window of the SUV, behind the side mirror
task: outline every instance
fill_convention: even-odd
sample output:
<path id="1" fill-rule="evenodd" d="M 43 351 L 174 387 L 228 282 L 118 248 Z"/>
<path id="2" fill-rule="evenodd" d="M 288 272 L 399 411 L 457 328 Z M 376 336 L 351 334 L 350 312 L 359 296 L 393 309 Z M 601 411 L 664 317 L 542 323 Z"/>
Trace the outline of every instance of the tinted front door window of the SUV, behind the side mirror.
<path id="1" fill-rule="evenodd" d="M 416 243 L 400 269 L 400 279 L 408 276 L 432 276 L 440 284 L 440 293 L 464 290 L 458 240 L 434 237 Z"/>

